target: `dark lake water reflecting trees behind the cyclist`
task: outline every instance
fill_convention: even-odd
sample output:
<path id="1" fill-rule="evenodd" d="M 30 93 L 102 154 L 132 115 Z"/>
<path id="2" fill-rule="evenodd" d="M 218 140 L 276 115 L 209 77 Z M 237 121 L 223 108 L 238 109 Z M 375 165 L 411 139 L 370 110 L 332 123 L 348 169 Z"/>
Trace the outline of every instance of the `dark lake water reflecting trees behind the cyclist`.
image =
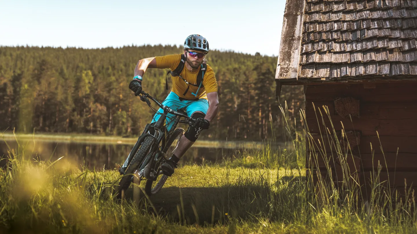
<path id="1" fill-rule="evenodd" d="M 16 141 L 7 141 L 10 149 L 17 149 Z M 22 141 L 25 145 L 25 154 L 32 154 L 32 158 L 40 160 L 56 160 L 65 156 L 65 161 L 76 164 L 77 167 L 84 165 L 89 169 L 113 169 L 117 164 L 123 164 L 130 153 L 131 144 L 85 144 L 68 142 L 42 142 Z M 9 147 L 5 142 L 0 142 L 0 156 L 7 157 Z M 223 157 L 239 155 L 241 149 L 224 149 L 210 147 L 191 147 L 181 159 L 181 163 L 191 162 L 201 164 L 205 162 L 221 162 Z M 0 161 L 4 165 L 5 160 Z"/>

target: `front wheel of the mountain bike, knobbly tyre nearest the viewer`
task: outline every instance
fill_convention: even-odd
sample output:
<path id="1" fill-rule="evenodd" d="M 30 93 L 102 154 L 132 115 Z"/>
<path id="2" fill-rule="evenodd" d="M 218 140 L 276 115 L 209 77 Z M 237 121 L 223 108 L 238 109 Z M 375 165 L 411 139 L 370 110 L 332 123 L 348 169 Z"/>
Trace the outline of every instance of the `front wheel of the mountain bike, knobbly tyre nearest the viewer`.
<path id="1" fill-rule="evenodd" d="M 141 147 L 138 149 L 135 156 L 132 158 L 131 163 L 128 165 L 128 168 L 126 168 L 125 175 L 122 177 L 122 179 L 119 182 L 118 194 L 117 194 L 118 199 L 121 199 L 122 191 L 126 191 L 126 189 L 128 189 L 129 185 L 131 184 L 133 180 L 133 173 L 135 173 L 135 171 L 141 165 L 143 159 L 145 159 L 146 155 L 151 149 L 153 141 L 154 141 L 153 137 L 146 137 L 143 143 L 141 144 Z"/>

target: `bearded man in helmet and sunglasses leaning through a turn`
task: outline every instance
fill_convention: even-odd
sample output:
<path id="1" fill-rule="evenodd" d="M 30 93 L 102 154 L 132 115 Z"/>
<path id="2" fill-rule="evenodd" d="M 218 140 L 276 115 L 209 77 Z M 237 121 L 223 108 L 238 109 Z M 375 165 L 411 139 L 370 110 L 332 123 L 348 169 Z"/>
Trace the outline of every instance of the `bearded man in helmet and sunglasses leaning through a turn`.
<path id="1" fill-rule="evenodd" d="M 164 174 L 171 176 L 174 168 L 184 153 L 194 144 L 203 129 L 210 127 L 210 122 L 219 112 L 217 81 L 213 69 L 206 65 L 205 56 L 209 50 L 206 38 L 193 34 L 184 42 L 184 53 L 150 57 L 139 60 L 135 67 L 135 76 L 129 88 L 138 96 L 142 91 L 142 77 L 147 68 L 170 69 L 172 90 L 162 102 L 173 110 L 184 110 L 188 117 L 196 119 L 193 126 L 188 127 L 181 137 L 173 155 L 161 165 Z M 166 86 L 168 89 L 168 85 Z M 158 121 L 163 110 L 159 108 L 152 123 Z M 167 116 L 167 131 L 170 132 L 172 115 Z M 154 130 L 153 130 L 154 131 Z M 155 134 L 150 132 L 150 134 Z"/>

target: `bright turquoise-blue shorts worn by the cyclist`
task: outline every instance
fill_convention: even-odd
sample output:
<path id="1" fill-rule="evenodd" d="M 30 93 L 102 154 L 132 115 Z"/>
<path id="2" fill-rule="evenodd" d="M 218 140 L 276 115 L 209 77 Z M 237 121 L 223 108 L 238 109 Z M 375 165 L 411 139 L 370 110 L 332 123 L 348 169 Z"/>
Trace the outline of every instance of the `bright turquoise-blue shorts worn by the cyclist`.
<path id="1" fill-rule="evenodd" d="M 199 99 L 196 101 L 180 101 L 178 95 L 176 95 L 176 93 L 174 92 L 170 92 L 166 99 L 162 102 L 162 104 L 170 107 L 175 111 L 184 110 L 185 112 L 187 112 L 188 117 L 191 117 L 191 115 L 196 111 L 201 111 L 204 113 L 204 115 L 206 115 L 208 110 L 208 101 L 206 99 Z M 163 110 L 159 108 L 158 112 L 156 112 L 155 116 L 152 119 L 152 123 L 158 121 L 159 117 L 161 116 L 158 113 L 163 113 Z M 166 129 L 168 131 L 171 131 L 172 125 L 174 124 L 174 119 L 174 115 L 167 115 L 166 121 L 168 126 Z"/>

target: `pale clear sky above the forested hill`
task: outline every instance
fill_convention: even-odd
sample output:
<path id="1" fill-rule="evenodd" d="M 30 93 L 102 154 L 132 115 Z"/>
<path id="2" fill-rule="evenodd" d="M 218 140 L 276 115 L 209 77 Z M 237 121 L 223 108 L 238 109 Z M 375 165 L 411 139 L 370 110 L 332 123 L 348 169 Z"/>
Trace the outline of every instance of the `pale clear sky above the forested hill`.
<path id="1" fill-rule="evenodd" d="M 278 55 L 286 0 L 0 0 L 0 46 L 182 45 Z"/>

